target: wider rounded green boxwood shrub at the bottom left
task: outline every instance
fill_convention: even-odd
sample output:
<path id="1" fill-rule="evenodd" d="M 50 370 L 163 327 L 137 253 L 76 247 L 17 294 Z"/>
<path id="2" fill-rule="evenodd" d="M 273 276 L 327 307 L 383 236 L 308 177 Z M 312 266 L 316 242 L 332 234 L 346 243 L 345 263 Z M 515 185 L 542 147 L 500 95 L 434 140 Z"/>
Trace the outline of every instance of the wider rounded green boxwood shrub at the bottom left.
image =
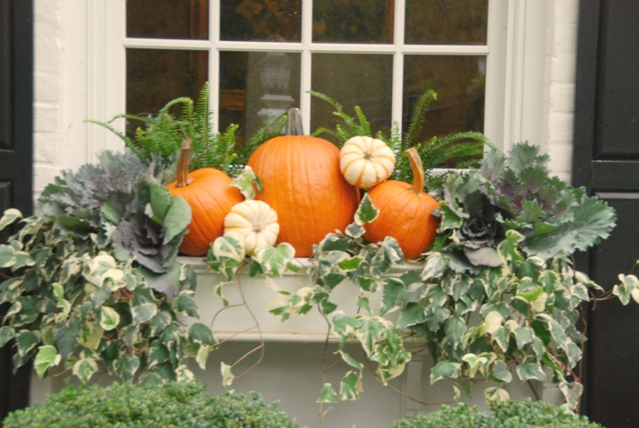
<path id="1" fill-rule="evenodd" d="M 12 412 L 4 427 L 300 427 L 257 393 L 209 395 L 200 382 L 67 386 L 46 402 Z"/>

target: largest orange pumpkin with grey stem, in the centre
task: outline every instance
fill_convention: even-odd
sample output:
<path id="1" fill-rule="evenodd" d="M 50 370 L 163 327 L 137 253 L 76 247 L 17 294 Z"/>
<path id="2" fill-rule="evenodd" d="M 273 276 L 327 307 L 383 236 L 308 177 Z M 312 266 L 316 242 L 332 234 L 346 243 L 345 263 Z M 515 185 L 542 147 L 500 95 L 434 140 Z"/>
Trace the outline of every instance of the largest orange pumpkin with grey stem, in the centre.
<path id="1" fill-rule="evenodd" d="M 353 221 L 358 194 L 339 170 L 337 146 L 303 135 L 301 120 L 300 110 L 290 109 L 285 135 L 259 146 L 248 165 L 263 185 L 256 199 L 278 213 L 278 242 L 310 257 L 313 244 Z"/>

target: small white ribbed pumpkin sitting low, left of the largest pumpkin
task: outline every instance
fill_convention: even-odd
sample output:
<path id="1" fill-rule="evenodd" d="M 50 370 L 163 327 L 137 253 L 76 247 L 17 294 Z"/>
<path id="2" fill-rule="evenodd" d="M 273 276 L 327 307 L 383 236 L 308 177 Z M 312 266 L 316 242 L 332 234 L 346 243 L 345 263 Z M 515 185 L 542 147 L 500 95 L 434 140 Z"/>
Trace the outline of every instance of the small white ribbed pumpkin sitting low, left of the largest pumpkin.
<path id="1" fill-rule="evenodd" d="M 244 242 L 246 255 L 275 244 L 279 232 L 278 213 L 261 200 L 244 200 L 234 205 L 224 218 L 224 235 Z"/>

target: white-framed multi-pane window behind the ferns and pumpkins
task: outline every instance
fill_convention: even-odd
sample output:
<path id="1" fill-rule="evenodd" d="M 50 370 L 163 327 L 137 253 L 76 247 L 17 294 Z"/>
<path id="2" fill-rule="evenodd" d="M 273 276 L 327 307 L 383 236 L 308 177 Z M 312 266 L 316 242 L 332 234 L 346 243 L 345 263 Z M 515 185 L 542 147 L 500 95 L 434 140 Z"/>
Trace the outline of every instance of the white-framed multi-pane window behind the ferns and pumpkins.
<path id="1" fill-rule="evenodd" d="M 237 123 L 250 135 L 288 107 L 302 109 L 307 131 L 327 124 L 330 107 L 309 90 L 349 111 L 360 105 L 374 126 L 402 127 L 412 102 L 432 88 L 439 97 L 425 137 L 474 129 L 498 145 L 513 140 L 505 122 L 520 115 L 510 92 L 522 78 L 508 74 L 517 65 L 510 50 L 521 48 L 516 24 L 526 16 L 519 2 L 102 1 L 89 11 L 104 57 L 88 72 L 87 117 L 156 112 L 174 97 L 196 97 L 209 81 L 219 129 Z M 121 146 L 93 134 L 94 151 Z"/>

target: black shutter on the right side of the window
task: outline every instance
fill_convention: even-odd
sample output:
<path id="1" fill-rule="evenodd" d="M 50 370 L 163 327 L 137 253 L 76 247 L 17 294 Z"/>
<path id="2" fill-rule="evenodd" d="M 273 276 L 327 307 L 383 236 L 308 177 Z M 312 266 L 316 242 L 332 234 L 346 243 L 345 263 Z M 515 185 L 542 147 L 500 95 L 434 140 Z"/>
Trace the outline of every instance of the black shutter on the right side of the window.
<path id="1" fill-rule="evenodd" d="M 578 267 L 611 289 L 639 259 L 639 1 L 579 9 L 573 181 L 618 220 Z M 584 410 L 605 427 L 639 427 L 639 306 L 599 302 L 587 321 Z"/>

